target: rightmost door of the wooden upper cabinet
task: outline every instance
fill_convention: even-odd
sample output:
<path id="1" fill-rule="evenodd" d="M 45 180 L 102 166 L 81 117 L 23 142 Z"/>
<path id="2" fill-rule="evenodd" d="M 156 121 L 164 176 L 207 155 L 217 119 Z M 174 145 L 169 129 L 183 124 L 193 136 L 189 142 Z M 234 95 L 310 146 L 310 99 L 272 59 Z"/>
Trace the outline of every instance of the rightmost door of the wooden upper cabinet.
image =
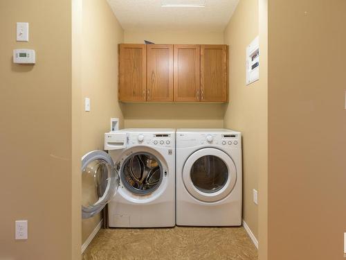
<path id="1" fill-rule="evenodd" d="M 201 45 L 201 101 L 228 101 L 227 45 Z"/>

